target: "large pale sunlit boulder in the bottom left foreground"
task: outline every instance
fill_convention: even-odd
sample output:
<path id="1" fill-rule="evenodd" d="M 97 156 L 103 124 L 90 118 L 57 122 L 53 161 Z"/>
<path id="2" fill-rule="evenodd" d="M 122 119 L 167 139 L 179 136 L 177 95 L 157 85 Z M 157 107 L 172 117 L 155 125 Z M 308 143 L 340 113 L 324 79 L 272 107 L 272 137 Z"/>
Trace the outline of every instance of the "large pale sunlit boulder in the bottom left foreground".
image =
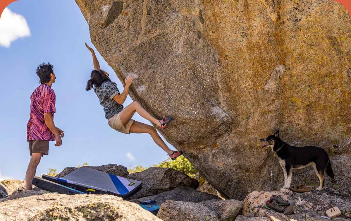
<path id="1" fill-rule="evenodd" d="M 27 190 L 0 202 L 0 220 L 160 220 L 112 195 L 65 195 Z"/>

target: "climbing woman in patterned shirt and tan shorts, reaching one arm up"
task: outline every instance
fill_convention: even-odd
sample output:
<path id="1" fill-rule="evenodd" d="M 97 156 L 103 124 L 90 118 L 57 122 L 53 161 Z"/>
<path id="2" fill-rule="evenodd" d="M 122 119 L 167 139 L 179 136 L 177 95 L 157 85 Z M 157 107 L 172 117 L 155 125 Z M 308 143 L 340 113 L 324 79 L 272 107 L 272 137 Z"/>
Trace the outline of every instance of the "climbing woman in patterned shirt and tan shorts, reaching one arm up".
<path id="1" fill-rule="evenodd" d="M 126 86 L 124 87 L 123 92 L 119 93 L 117 84 L 111 81 L 111 79 L 108 77 L 109 74 L 106 71 L 100 69 L 100 64 L 95 56 L 94 50 L 86 43 L 85 46 L 92 53 L 94 64 L 94 70 L 91 72 L 90 79 L 88 80 L 86 86 L 86 91 L 89 91 L 92 88 L 94 89 L 101 106 L 104 107 L 105 117 L 108 119 L 108 125 L 110 125 L 111 128 L 125 134 L 130 134 L 131 132 L 135 134 L 150 134 L 154 142 L 159 145 L 160 148 L 166 151 L 172 160 L 176 160 L 177 157 L 182 155 L 183 152 L 173 151 L 168 148 L 153 126 L 134 121 L 132 119 L 134 113 L 138 112 L 141 117 L 144 117 L 151 123 L 156 124 L 159 129 L 164 129 L 167 124 L 171 122 L 172 117 L 168 116 L 161 120 L 157 120 L 136 101 L 123 108 L 122 104 L 127 98 L 129 86 L 132 84 L 133 78 L 130 76 L 125 79 L 124 82 L 126 83 Z"/>

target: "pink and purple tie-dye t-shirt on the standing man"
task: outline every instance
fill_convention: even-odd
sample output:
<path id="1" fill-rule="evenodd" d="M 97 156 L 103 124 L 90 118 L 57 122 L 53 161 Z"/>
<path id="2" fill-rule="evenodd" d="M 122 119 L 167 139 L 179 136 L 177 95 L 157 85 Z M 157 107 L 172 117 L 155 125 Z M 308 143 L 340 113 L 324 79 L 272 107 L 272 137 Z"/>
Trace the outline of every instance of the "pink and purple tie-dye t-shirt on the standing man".
<path id="1" fill-rule="evenodd" d="M 54 117 L 56 95 L 47 84 L 37 87 L 31 96 L 31 114 L 27 124 L 27 141 L 55 141 L 55 136 L 45 124 L 44 113 Z"/>

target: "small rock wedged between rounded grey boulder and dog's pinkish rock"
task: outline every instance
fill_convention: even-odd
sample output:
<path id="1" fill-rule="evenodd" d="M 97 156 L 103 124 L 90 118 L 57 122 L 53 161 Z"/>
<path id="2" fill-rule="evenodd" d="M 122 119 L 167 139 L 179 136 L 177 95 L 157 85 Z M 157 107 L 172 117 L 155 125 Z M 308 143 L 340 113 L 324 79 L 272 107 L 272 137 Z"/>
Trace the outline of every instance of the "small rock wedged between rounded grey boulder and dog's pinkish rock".
<path id="1" fill-rule="evenodd" d="M 243 208 L 243 201 L 239 200 L 206 200 L 199 204 L 213 211 L 219 220 L 235 220 Z"/>

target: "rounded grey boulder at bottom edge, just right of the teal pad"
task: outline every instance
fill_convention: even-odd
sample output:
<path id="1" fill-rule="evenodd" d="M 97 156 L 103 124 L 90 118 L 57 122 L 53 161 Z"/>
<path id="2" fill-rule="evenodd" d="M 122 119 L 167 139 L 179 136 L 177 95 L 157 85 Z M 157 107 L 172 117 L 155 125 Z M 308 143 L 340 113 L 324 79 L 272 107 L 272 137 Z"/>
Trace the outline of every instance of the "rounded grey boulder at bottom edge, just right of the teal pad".
<path id="1" fill-rule="evenodd" d="M 162 220 L 218 220 L 214 212 L 201 204 L 172 200 L 161 204 L 157 217 Z"/>

